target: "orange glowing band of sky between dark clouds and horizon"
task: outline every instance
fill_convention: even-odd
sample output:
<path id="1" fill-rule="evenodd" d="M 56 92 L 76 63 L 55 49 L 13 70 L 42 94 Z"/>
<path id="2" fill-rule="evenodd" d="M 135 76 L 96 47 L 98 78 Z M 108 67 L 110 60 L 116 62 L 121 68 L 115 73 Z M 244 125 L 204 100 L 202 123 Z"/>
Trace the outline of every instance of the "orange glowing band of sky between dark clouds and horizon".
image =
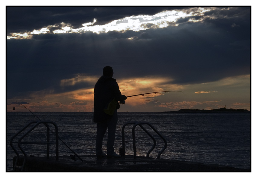
<path id="1" fill-rule="evenodd" d="M 74 83 L 87 82 L 94 83 L 96 76 L 79 76 L 64 82 L 60 85 L 74 85 Z M 169 78 L 148 76 L 144 78 L 119 79 L 120 91 L 123 95 L 136 95 L 147 92 L 159 92 L 168 90 L 178 90 L 181 92 L 166 92 L 148 94 L 144 96 L 134 96 L 126 100 L 125 105 L 121 105 L 119 111 L 135 112 L 163 112 L 176 111 L 181 108 L 187 109 L 215 109 L 226 107 L 234 109 L 250 110 L 249 85 L 250 76 L 237 76 L 225 78 L 212 83 L 202 83 L 195 85 L 177 86 L 168 84 L 172 81 Z M 64 84 L 65 83 L 65 84 Z M 230 88 L 238 87 L 238 91 L 231 91 Z M 241 88 L 245 88 L 242 90 Z M 198 91 L 200 90 L 200 91 Z M 243 92 L 243 93 L 242 93 Z M 50 92 L 31 92 L 30 99 L 15 99 L 24 104 L 31 111 L 60 111 L 60 112 L 92 112 L 94 89 L 85 88 L 70 92 L 51 94 Z M 237 95 L 240 93 L 240 96 Z M 231 101 L 231 96 L 234 99 Z M 248 96 L 248 98 L 247 98 Z M 245 102 L 240 100 L 245 99 Z M 9 103 L 12 101 L 9 100 Z M 18 104 L 10 104 L 7 111 L 27 111 Z"/>

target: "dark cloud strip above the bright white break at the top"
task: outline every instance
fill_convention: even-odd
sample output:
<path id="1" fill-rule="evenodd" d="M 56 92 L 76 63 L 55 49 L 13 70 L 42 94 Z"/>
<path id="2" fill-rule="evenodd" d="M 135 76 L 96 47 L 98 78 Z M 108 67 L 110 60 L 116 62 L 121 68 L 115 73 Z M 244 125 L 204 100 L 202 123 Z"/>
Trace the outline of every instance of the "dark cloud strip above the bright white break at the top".
<path id="1" fill-rule="evenodd" d="M 103 25 L 110 21 L 132 15 L 154 15 L 158 12 L 182 7 L 6 7 L 7 34 L 24 33 L 41 29 L 48 25 L 62 22 L 71 24 L 73 28 L 80 28 L 82 24 L 93 22 L 94 25 Z M 185 8 L 185 7 L 184 7 Z"/>

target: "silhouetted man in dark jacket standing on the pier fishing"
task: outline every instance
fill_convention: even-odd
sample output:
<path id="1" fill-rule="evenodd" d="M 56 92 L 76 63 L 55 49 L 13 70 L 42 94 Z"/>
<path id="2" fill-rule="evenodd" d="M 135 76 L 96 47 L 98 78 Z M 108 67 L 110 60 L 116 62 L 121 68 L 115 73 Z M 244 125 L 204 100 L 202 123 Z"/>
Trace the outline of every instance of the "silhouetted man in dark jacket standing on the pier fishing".
<path id="1" fill-rule="evenodd" d="M 96 134 L 96 156 L 97 159 L 102 157 L 121 157 L 114 152 L 115 131 L 118 121 L 117 109 L 119 102 L 125 103 L 127 97 L 122 95 L 119 90 L 119 85 L 112 78 L 112 67 L 106 66 L 103 68 L 103 76 L 98 79 L 95 85 L 94 95 L 94 122 L 97 123 Z M 107 139 L 107 155 L 102 151 L 102 141 L 104 134 L 108 128 Z"/>

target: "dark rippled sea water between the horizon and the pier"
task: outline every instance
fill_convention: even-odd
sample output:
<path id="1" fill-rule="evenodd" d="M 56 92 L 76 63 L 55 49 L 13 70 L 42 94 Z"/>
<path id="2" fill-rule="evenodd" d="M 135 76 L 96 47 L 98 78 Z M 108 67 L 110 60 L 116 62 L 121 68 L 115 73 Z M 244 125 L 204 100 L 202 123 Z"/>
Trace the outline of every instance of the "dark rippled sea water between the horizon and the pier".
<path id="1" fill-rule="evenodd" d="M 34 115 L 33 115 L 34 114 Z M 58 126 L 59 155 L 95 154 L 96 124 L 92 112 L 7 112 L 6 114 L 6 170 L 12 171 L 16 156 L 10 146 L 11 137 L 30 121 L 54 121 Z M 122 126 L 130 121 L 148 122 L 167 140 L 167 148 L 160 158 L 220 164 L 236 168 L 251 167 L 250 113 L 161 113 L 118 112 L 115 152 L 122 147 Z M 55 131 L 53 125 L 49 125 Z M 132 126 L 125 127 L 125 154 L 133 155 Z M 149 157 L 157 158 L 164 141 L 148 125 L 144 127 L 155 137 L 156 147 Z M 24 132 L 22 132 L 24 133 Z M 146 156 L 153 140 L 139 126 L 135 128 L 136 154 Z M 50 139 L 54 134 L 50 132 Z M 15 140 L 14 140 L 15 141 Z M 22 141 L 46 141 L 46 127 L 41 124 Z M 17 140 L 16 140 L 17 142 Z M 46 156 L 46 144 L 22 144 L 27 155 Z M 69 148 L 70 149 L 69 149 Z M 103 141 L 106 152 L 107 134 Z M 20 152 L 20 155 L 23 154 Z M 55 156 L 55 145 L 50 145 Z"/>

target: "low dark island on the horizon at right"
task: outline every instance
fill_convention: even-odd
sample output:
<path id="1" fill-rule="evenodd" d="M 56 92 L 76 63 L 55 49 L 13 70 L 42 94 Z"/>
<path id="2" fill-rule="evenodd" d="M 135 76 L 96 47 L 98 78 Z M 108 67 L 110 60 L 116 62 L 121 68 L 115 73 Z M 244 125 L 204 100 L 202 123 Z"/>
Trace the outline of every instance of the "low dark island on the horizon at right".
<path id="1" fill-rule="evenodd" d="M 246 109 L 227 109 L 227 108 L 220 108 L 220 109 L 181 109 L 179 111 L 165 111 L 165 112 L 173 112 L 173 113 L 214 113 L 214 112 L 251 112 Z"/>

